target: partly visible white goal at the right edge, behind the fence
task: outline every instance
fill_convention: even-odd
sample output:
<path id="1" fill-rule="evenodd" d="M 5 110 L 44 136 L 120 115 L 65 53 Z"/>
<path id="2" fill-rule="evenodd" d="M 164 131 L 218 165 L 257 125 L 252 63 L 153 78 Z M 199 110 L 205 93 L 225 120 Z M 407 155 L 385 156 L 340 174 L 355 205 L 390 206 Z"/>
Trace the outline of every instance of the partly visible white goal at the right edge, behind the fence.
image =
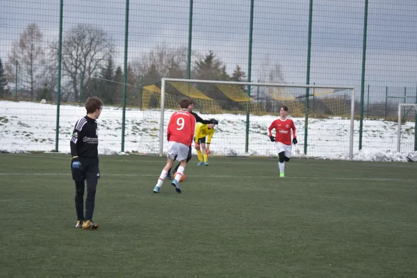
<path id="1" fill-rule="evenodd" d="M 417 151 L 417 104 L 398 104 L 397 152 Z"/>

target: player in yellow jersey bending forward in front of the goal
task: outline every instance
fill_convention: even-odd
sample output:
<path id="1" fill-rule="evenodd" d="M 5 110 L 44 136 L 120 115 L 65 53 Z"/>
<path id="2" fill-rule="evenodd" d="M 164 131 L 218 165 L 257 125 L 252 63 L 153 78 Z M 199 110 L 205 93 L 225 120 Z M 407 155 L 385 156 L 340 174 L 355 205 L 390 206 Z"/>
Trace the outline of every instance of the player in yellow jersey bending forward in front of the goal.
<path id="1" fill-rule="evenodd" d="M 201 122 L 195 125 L 194 142 L 197 150 L 198 166 L 208 166 L 208 154 L 210 154 L 210 142 L 214 134 L 214 126 L 216 120 L 211 119 L 212 124 L 202 124 Z M 207 137 L 208 136 L 208 137 Z M 207 137 L 207 142 L 206 142 Z"/>

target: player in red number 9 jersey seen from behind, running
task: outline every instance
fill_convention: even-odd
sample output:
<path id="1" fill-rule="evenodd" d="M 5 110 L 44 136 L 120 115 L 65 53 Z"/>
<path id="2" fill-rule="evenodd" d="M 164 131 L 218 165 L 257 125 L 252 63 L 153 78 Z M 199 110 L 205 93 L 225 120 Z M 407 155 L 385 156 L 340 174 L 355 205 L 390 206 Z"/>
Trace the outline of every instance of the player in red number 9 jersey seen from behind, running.
<path id="1" fill-rule="evenodd" d="M 191 142 L 193 142 L 195 129 L 195 117 L 187 111 L 189 105 L 190 99 L 181 99 L 181 101 L 179 101 L 181 110 L 171 115 L 170 123 L 167 128 L 167 164 L 163 167 L 161 176 L 154 188 L 154 193 L 159 193 L 161 191 L 163 180 L 167 177 L 168 171 L 171 169 L 175 159 L 180 161 L 181 164 L 179 165 L 177 174 L 171 184 L 172 186 L 175 186 L 177 193 L 181 193 L 179 179 L 181 179 L 187 165 L 188 150 L 190 149 L 189 146 L 191 145 Z"/>

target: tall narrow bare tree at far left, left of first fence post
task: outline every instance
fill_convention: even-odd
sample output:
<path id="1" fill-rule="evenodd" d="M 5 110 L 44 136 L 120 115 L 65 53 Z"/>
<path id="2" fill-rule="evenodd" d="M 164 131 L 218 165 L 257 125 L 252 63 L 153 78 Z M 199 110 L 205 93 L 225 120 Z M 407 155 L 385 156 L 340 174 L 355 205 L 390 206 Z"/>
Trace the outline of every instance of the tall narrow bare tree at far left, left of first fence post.
<path id="1" fill-rule="evenodd" d="M 43 35 L 38 25 L 31 23 L 20 34 L 17 42 L 12 42 L 6 72 L 9 80 L 15 80 L 16 65 L 19 76 L 19 88 L 28 90 L 34 98 L 35 83 L 42 76 L 44 64 Z"/>

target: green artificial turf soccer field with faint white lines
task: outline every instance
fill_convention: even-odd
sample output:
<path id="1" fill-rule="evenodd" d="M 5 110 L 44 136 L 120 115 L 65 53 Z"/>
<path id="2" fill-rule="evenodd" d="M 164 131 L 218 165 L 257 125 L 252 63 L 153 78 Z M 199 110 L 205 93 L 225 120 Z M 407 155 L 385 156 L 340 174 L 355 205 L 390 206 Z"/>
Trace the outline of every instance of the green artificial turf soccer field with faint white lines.
<path id="1" fill-rule="evenodd" d="M 70 156 L 0 154 L 0 277 L 416 277 L 417 164 L 101 156 L 97 231 L 76 229 Z"/>

